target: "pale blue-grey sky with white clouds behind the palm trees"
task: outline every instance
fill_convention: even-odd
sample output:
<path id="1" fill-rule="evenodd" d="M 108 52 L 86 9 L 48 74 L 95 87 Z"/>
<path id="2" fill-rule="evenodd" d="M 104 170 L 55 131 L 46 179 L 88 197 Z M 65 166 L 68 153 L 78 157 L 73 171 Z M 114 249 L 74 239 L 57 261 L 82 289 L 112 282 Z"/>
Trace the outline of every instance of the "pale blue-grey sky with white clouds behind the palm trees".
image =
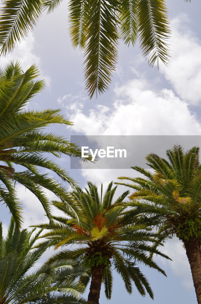
<path id="1" fill-rule="evenodd" d="M 33 32 L 19 44 L 12 54 L 0 58 L 4 67 L 9 60 L 19 60 L 24 70 L 36 63 L 40 78 L 46 79 L 46 89 L 29 102 L 29 109 L 59 108 L 74 126 L 54 126 L 53 131 L 70 138 L 70 135 L 201 135 L 201 31 L 199 0 L 186 3 L 168 0 L 172 36 L 171 62 L 148 67 L 138 45 L 119 46 L 117 70 L 108 92 L 98 98 L 87 97 L 83 81 L 83 53 L 73 50 L 68 34 L 67 2 L 64 1 L 52 14 L 43 14 Z M 163 143 L 164 144 L 164 143 Z M 171 147 L 165 147 L 171 148 Z M 157 151 L 154 151 L 157 152 Z M 145 143 L 145 155 L 146 151 Z M 133 163 L 136 165 L 135 157 Z M 65 167 L 83 187 L 87 180 L 100 187 L 117 177 L 135 176 L 132 169 L 70 169 L 70 159 L 62 157 Z M 24 204 L 24 226 L 44 221 L 44 211 L 37 199 L 23 186 L 18 193 Z M 118 194 L 124 187 L 118 187 Z M 48 193 L 50 199 L 54 199 Z M 56 212 L 56 211 L 55 211 Z M 8 226 L 8 209 L 2 206 L 1 220 Z M 189 264 L 181 242 L 173 238 L 162 251 L 172 258 L 158 264 L 166 271 L 167 278 L 156 271 L 141 269 L 147 275 L 155 294 L 155 304 L 196 303 Z M 50 250 L 43 257 L 52 254 Z M 104 290 L 100 303 L 106 304 Z M 128 295 L 117 274 L 111 304 L 149 304 L 152 300 L 142 298 L 135 287 Z"/>

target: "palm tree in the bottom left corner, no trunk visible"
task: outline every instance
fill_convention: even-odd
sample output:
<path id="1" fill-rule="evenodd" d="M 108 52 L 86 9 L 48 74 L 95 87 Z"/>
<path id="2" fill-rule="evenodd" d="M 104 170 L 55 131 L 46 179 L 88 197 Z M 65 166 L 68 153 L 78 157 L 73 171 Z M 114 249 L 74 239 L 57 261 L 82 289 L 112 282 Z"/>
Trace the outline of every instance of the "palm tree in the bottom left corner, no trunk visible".
<path id="1" fill-rule="evenodd" d="M 80 298 L 84 285 L 79 279 L 87 269 L 67 258 L 51 257 L 30 274 L 30 269 L 48 248 L 48 241 L 32 249 L 41 230 L 17 231 L 11 219 L 8 234 L 2 236 L 0 223 L 0 303 L 1 304 L 86 304 Z"/>

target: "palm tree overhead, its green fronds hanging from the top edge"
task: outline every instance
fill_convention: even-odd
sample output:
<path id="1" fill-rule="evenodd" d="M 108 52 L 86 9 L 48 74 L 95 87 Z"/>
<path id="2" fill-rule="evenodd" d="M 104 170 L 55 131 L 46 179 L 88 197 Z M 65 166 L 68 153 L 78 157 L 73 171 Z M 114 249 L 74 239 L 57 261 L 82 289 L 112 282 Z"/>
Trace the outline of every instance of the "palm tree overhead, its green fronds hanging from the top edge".
<path id="1" fill-rule="evenodd" d="M 0 15 L 1 54 L 12 51 L 41 13 L 52 12 L 60 2 L 5 0 Z M 68 8 L 72 46 L 84 50 L 84 79 L 90 98 L 108 89 L 120 39 L 128 46 L 138 40 L 150 66 L 158 59 L 168 64 L 170 29 L 164 0 L 70 0 Z"/>

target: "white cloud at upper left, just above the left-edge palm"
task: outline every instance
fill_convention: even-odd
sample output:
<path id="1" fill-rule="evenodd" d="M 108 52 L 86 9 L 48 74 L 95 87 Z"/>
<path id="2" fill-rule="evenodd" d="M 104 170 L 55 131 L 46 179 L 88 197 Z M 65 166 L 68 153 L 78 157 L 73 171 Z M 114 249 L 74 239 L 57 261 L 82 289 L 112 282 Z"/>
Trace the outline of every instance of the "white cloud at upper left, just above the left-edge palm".
<path id="1" fill-rule="evenodd" d="M 37 64 L 40 76 L 39 79 L 45 79 L 46 85 L 50 86 L 50 77 L 41 69 L 41 59 L 34 52 L 35 38 L 32 33 L 29 34 L 21 43 L 15 46 L 12 53 L 0 57 L 0 67 L 4 68 L 11 60 L 19 61 L 22 64 L 23 71 L 26 71 L 32 64 Z"/>

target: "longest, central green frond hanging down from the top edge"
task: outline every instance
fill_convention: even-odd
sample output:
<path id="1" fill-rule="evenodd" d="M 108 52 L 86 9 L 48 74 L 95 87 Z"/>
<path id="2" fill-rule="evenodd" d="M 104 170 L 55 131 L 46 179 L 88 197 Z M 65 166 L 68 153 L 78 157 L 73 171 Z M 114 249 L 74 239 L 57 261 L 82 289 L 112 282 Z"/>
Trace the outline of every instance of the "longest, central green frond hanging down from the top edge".
<path id="1" fill-rule="evenodd" d="M 119 40 L 117 5 L 116 1 L 88 2 L 84 79 L 90 98 L 108 90 L 115 71 Z"/>

